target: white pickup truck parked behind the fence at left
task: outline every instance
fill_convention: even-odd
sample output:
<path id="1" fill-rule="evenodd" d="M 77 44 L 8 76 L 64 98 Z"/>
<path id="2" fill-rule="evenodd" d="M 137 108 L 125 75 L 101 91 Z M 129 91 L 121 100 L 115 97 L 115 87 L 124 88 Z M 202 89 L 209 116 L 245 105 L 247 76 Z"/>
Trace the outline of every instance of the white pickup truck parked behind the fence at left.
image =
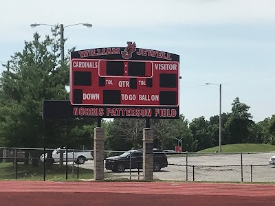
<path id="1" fill-rule="evenodd" d="M 52 158 L 54 159 L 54 162 L 59 162 L 60 152 L 63 152 L 63 159 L 66 161 L 66 149 L 63 148 L 61 150 L 61 148 L 57 148 L 52 152 Z M 45 154 L 45 158 L 47 158 L 47 153 Z M 74 161 L 77 164 L 83 164 L 89 159 L 94 159 L 92 152 L 90 151 L 76 150 L 73 152 L 72 150 L 69 150 L 68 152 L 68 161 Z M 40 161 L 44 161 L 44 154 L 40 156 Z"/>

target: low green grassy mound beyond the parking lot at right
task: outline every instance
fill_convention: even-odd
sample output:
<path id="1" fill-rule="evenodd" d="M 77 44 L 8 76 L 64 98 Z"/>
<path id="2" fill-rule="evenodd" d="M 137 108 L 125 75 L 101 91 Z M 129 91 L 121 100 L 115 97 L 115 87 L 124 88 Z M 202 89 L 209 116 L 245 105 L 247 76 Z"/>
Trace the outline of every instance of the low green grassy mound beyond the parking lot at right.
<path id="1" fill-rule="evenodd" d="M 216 152 L 219 146 L 200 150 L 199 152 Z M 227 144 L 221 146 L 221 152 L 273 152 L 275 146 L 270 144 Z"/>

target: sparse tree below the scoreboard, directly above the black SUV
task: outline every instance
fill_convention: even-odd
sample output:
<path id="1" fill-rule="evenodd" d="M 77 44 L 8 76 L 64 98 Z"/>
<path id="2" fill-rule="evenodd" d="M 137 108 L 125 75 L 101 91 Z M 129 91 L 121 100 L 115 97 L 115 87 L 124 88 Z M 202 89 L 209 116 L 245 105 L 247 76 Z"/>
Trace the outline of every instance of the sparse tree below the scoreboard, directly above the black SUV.
<path id="1" fill-rule="evenodd" d="M 113 119 L 108 125 L 107 148 L 111 150 L 129 150 L 142 148 L 145 119 Z M 151 119 L 155 148 L 175 148 L 176 138 L 192 137 L 188 122 L 183 115 L 179 119 Z M 186 141 L 186 146 L 190 145 Z"/>

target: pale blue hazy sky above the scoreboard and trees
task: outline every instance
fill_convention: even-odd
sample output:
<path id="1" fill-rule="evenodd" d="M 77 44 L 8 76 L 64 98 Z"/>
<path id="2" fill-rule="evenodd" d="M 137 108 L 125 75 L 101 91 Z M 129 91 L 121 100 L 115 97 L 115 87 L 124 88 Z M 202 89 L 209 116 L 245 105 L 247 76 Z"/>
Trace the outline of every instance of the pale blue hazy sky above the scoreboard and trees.
<path id="1" fill-rule="evenodd" d="M 1 2 L 0 61 L 34 32 L 63 24 L 65 50 L 137 47 L 180 56 L 179 110 L 186 119 L 230 113 L 236 97 L 255 122 L 275 114 L 274 0 L 9 0 Z M 76 23 L 91 23 L 93 27 Z M 66 27 L 67 26 L 67 27 Z M 0 65 L 0 71 L 5 67 Z"/>

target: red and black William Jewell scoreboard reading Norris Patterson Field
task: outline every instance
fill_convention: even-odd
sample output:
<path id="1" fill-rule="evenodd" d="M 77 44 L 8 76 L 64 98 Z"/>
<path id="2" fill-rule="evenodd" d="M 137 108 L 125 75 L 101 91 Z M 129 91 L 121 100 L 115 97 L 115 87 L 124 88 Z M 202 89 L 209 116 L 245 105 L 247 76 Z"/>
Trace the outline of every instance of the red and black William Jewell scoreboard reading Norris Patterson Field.
<path id="1" fill-rule="evenodd" d="M 72 52 L 70 103 L 73 116 L 178 118 L 179 56 L 133 43 Z"/>

